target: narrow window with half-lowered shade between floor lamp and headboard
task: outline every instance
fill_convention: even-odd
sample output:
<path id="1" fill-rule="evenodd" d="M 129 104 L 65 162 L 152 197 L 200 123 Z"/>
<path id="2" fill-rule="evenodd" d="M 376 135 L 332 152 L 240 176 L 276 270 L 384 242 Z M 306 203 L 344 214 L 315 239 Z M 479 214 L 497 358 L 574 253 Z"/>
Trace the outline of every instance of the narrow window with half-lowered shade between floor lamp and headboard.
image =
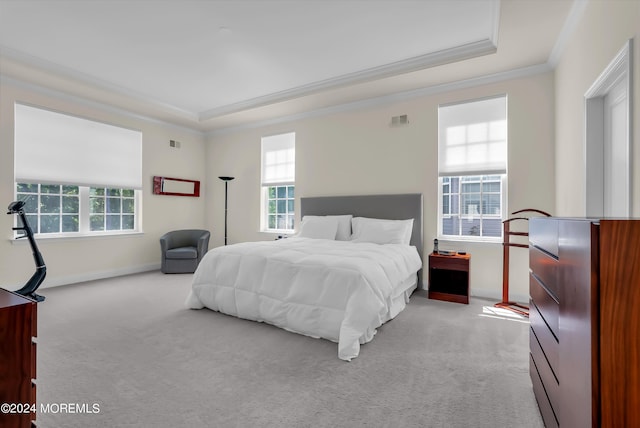
<path id="1" fill-rule="evenodd" d="M 295 133 L 262 138 L 262 220 L 266 232 L 294 230 Z"/>

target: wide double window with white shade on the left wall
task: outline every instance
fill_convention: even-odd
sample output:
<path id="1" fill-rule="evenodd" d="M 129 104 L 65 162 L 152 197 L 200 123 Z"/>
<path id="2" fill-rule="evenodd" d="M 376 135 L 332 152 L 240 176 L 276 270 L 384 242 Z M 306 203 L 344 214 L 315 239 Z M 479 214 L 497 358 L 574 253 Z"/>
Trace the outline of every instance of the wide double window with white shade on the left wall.
<path id="1" fill-rule="evenodd" d="M 138 231 L 142 134 L 16 104 L 15 180 L 34 233 Z"/>

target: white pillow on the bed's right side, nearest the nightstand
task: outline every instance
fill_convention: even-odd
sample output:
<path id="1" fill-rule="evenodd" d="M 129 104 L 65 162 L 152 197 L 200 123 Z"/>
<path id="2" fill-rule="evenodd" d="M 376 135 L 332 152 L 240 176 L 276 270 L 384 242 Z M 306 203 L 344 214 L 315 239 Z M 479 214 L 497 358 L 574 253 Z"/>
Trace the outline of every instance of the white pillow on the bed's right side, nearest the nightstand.
<path id="1" fill-rule="evenodd" d="M 354 242 L 373 242 L 374 244 L 404 244 L 411 242 L 413 219 L 382 220 L 376 218 L 355 217 L 351 220 Z"/>

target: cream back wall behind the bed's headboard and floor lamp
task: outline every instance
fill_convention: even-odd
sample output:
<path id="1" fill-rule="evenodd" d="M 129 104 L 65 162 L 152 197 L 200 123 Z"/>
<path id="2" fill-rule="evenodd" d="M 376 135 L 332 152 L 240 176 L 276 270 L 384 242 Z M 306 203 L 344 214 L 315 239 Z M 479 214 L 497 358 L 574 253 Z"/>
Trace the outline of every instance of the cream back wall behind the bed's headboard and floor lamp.
<path id="1" fill-rule="evenodd" d="M 229 242 L 273 239 L 260 233 L 260 138 L 296 133 L 296 203 L 303 196 L 422 193 L 424 253 L 437 235 L 438 104 L 495 94 L 508 95 L 509 212 L 555 211 L 553 73 L 507 80 L 356 111 L 310 117 L 278 125 L 212 135 L 206 151 L 207 226 L 212 245 L 224 239 L 224 184 L 229 184 Z M 406 127 L 389 127 L 407 114 Z M 298 219 L 299 220 L 299 219 Z M 524 225 L 526 228 L 526 224 Z M 526 230 L 526 229 L 525 229 Z M 502 245 L 441 242 L 441 248 L 472 255 L 475 295 L 501 297 Z M 512 298 L 528 301 L 528 255 L 511 250 Z"/>

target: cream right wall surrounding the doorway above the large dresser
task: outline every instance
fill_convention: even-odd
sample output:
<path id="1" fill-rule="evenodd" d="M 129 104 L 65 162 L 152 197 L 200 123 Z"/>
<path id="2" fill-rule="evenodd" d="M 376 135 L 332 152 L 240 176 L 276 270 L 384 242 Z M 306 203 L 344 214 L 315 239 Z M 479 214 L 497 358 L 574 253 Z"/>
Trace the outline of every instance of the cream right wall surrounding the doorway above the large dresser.
<path id="1" fill-rule="evenodd" d="M 584 94 L 634 38 L 632 215 L 640 216 L 640 2 L 590 1 L 556 68 L 556 205 L 560 216 L 584 216 Z"/>

